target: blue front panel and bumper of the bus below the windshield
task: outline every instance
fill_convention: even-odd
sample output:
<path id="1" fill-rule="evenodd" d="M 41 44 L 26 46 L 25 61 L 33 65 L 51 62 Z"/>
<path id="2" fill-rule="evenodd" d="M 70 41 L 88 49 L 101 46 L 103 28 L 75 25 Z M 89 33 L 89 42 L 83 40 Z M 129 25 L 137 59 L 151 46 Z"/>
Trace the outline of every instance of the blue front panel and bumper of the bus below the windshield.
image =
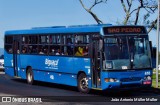
<path id="1" fill-rule="evenodd" d="M 102 90 L 114 88 L 135 88 L 144 86 L 144 77 L 151 76 L 152 70 L 102 71 L 102 81 L 105 78 L 117 79 L 117 82 L 102 82 Z"/>

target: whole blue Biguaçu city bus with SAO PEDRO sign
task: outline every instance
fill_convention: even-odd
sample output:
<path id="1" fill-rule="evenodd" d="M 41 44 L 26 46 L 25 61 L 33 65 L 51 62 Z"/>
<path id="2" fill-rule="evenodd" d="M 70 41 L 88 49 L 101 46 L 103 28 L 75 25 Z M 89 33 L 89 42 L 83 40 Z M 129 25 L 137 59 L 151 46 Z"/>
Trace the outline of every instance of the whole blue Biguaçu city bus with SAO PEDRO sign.
<path id="1" fill-rule="evenodd" d="M 5 73 L 15 78 L 112 90 L 151 87 L 144 26 L 77 25 L 5 32 Z"/>

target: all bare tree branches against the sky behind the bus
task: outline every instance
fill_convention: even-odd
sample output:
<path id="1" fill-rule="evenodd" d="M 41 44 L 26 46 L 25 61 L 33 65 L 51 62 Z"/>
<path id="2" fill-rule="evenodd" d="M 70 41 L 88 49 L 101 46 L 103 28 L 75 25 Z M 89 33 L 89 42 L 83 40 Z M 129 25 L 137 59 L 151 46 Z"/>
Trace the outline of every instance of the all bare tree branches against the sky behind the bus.
<path id="1" fill-rule="evenodd" d="M 95 19 L 98 24 L 102 24 L 102 20 L 92 11 L 92 9 L 101 4 L 107 3 L 111 0 L 92 0 L 92 4 L 90 7 L 87 7 L 84 4 L 84 0 L 79 0 L 82 7 Z M 112 0 L 113 2 L 113 0 Z M 114 3 L 114 2 L 113 2 Z M 143 23 L 149 27 L 148 32 L 150 32 L 153 28 L 155 28 L 157 23 L 157 18 L 151 20 L 150 17 L 152 14 L 156 13 L 158 8 L 156 0 L 120 0 L 120 5 L 123 7 L 125 18 L 123 20 L 123 24 L 132 24 L 138 25 L 139 21 L 142 19 L 140 16 L 143 16 Z M 114 10 L 112 10 L 114 12 Z M 115 11 L 116 12 L 116 11 Z M 140 15 L 141 14 L 141 15 Z"/>

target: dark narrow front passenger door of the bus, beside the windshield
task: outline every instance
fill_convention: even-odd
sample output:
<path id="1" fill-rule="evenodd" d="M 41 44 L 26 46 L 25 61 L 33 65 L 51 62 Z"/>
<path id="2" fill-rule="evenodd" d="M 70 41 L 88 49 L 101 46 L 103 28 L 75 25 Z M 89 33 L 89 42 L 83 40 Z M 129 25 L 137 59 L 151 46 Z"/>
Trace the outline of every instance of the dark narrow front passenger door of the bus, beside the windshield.
<path id="1" fill-rule="evenodd" d="M 92 43 L 92 87 L 100 88 L 100 50 L 99 39 L 94 39 Z"/>

